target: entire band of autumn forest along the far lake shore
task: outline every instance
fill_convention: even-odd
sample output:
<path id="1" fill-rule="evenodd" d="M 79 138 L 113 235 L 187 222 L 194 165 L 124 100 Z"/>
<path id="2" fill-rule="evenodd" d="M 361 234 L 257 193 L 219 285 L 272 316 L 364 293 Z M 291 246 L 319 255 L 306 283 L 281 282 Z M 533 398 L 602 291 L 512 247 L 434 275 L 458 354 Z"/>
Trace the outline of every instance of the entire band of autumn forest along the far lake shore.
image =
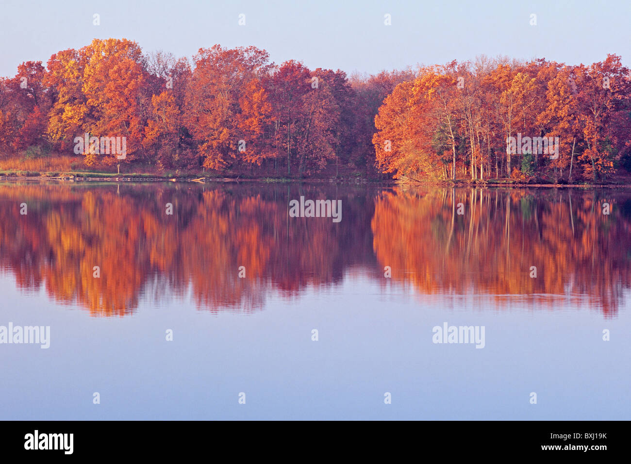
<path id="1" fill-rule="evenodd" d="M 0 174 L 605 182 L 631 169 L 621 57 L 569 66 L 479 56 L 375 75 L 275 64 L 257 47 L 187 59 L 127 39 L 27 61 L 0 78 Z M 75 150 L 118 137 L 126 156 Z M 558 140 L 558 155 L 511 138 Z"/>

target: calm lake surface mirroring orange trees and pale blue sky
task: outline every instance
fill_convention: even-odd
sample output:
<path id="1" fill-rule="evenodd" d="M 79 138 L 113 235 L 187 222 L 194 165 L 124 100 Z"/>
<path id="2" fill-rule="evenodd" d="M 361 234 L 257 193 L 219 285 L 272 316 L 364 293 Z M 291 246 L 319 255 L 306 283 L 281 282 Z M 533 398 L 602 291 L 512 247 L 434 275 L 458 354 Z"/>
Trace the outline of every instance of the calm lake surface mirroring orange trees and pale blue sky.
<path id="1" fill-rule="evenodd" d="M 621 189 L 0 184 L 0 326 L 50 326 L 0 419 L 628 420 L 630 233 Z"/>

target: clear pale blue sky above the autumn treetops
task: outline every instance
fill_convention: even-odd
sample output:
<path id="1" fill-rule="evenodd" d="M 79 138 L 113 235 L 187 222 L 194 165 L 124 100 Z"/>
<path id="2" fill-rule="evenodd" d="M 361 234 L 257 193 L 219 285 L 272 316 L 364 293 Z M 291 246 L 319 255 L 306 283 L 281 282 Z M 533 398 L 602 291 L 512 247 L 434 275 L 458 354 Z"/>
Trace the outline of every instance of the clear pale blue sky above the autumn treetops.
<path id="1" fill-rule="evenodd" d="M 498 54 L 631 64 L 631 2 L 587 1 L 25 1 L 2 0 L 0 76 L 22 61 L 126 37 L 144 51 L 191 57 L 199 47 L 256 45 L 274 62 L 375 73 Z M 92 15 L 100 15 L 100 26 Z M 238 16 L 245 14 L 245 26 Z M 384 25 L 384 15 L 392 25 Z M 537 15 L 537 25 L 529 24 Z"/>

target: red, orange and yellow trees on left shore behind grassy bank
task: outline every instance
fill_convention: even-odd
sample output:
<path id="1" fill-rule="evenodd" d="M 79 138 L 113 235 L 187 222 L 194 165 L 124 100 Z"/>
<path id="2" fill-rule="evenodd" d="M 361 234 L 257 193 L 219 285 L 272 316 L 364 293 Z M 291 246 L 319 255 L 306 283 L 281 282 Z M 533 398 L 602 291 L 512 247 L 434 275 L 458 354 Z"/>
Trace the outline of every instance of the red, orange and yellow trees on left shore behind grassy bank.
<path id="1" fill-rule="evenodd" d="M 411 71 L 375 76 L 276 65 L 256 47 L 151 52 L 95 39 L 28 61 L 0 80 L 0 150 L 73 154 L 74 139 L 126 137 L 126 157 L 85 148 L 87 166 L 251 169 L 304 177 L 327 166 L 374 170 L 374 115 Z"/>

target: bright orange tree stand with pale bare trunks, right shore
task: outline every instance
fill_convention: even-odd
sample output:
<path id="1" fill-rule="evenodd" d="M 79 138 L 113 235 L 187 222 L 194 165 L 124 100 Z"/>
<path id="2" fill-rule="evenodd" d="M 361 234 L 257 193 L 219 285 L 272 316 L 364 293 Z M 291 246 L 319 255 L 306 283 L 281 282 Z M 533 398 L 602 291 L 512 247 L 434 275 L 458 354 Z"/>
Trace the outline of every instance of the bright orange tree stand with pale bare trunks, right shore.
<path id="1" fill-rule="evenodd" d="M 421 68 L 379 109 L 377 164 L 412 179 L 602 181 L 631 167 L 630 97 L 615 55 L 589 66 L 478 57 Z M 533 145 L 541 138 L 558 142 L 553 154 Z"/>

